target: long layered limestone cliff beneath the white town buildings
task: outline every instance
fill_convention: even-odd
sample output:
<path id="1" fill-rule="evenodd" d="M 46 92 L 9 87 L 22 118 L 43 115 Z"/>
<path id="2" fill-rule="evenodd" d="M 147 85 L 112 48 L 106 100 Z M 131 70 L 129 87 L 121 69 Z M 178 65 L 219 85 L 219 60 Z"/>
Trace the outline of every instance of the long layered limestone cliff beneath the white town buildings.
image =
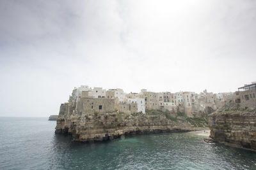
<path id="1" fill-rule="evenodd" d="M 164 115 L 120 113 L 59 115 L 56 133 L 72 134 L 74 141 L 102 141 L 126 134 L 200 130 L 188 122 L 172 122 Z"/>

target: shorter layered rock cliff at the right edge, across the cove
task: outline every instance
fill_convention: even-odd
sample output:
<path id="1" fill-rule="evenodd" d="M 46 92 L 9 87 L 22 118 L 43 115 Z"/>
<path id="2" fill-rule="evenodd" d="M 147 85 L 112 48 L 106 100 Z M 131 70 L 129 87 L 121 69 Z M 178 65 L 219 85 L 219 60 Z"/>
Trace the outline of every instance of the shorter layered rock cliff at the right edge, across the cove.
<path id="1" fill-rule="evenodd" d="M 210 137 L 228 146 L 256 152 L 256 111 L 222 110 L 209 115 Z"/>

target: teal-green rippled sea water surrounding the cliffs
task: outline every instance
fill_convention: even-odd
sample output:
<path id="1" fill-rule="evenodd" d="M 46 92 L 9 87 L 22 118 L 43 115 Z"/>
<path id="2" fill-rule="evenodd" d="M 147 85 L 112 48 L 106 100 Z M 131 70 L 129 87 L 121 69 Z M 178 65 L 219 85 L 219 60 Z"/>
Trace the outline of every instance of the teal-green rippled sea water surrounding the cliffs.
<path id="1" fill-rule="evenodd" d="M 47 118 L 0 117 L 0 169 L 256 169 L 256 153 L 191 133 L 134 135 L 98 143 L 54 134 Z"/>

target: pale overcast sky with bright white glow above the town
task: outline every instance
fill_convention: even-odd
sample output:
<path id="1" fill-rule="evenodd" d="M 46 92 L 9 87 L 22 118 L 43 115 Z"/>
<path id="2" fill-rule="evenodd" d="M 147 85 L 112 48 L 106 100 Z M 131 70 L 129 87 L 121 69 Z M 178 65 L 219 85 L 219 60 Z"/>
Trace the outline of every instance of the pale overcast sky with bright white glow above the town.
<path id="1" fill-rule="evenodd" d="M 80 85 L 235 92 L 255 63 L 254 0 L 0 1 L 0 117 L 57 115 Z"/>

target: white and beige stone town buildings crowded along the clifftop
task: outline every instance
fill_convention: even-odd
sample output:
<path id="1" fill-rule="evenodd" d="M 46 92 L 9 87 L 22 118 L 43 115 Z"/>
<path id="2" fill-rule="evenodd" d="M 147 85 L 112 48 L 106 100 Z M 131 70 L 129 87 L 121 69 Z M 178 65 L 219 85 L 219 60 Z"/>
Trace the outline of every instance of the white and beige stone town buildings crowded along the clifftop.
<path id="1" fill-rule="evenodd" d="M 186 117 L 204 117 L 205 114 L 221 108 L 229 103 L 241 103 L 241 106 L 255 106 L 256 82 L 240 87 L 237 92 L 149 92 L 141 89 L 141 92 L 126 94 L 122 89 L 102 89 L 87 85 L 74 88 L 67 106 L 68 113 L 147 113 L 151 110 L 170 111 L 184 113 Z M 67 109 L 66 108 L 66 109 Z M 61 110 L 60 110 L 61 112 Z"/>

